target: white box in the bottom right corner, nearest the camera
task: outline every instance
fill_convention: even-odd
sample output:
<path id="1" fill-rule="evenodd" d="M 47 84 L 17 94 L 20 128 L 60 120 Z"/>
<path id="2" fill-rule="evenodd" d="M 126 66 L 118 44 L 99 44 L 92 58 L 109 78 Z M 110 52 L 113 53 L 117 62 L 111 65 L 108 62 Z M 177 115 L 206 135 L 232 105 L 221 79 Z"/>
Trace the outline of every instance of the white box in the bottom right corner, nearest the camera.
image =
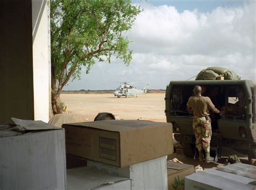
<path id="1" fill-rule="evenodd" d="M 255 185 L 249 184 L 253 179 L 239 175 L 207 169 L 185 177 L 185 190 L 215 190 L 215 189 L 255 189 Z"/>

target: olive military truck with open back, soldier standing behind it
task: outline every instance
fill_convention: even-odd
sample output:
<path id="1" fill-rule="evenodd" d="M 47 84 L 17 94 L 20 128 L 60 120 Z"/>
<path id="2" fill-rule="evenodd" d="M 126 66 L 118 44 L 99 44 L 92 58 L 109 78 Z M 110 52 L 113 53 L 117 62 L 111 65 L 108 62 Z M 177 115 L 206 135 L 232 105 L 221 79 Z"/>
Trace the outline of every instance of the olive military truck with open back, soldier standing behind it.
<path id="1" fill-rule="evenodd" d="M 210 97 L 221 111 L 221 116 L 210 113 L 215 161 L 221 157 L 223 146 L 247 154 L 249 159 L 256 158 L 256 87 L 251 80 L 171 81 L 167 85 L 166 120 L 172 123 L 174 138 L 182 144 L 184 154 L 195 155 L 192 115 L 186 110 L 195 85 L 200 85 L 202 95 Z"/>

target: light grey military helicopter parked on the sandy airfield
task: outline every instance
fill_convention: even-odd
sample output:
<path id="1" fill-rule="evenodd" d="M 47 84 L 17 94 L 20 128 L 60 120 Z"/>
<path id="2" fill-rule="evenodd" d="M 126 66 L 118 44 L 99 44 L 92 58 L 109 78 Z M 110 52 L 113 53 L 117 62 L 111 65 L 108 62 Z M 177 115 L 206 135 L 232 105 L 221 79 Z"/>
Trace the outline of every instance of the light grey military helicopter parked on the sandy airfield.
<path id="1" fill-rule="evenodd" d="M 120 98 L 122 96 L 125 96 L 127 98 L 128 96 L 136 96 L 138 94 L 145 94 L 147 92 L 147 85 L 146 84 L 144 89 L 137 89 L 136 87 L 132 86 L 131 83 L 121 83 L 121 85 L 114 91 L 114 96 L 117 98 Z"/>

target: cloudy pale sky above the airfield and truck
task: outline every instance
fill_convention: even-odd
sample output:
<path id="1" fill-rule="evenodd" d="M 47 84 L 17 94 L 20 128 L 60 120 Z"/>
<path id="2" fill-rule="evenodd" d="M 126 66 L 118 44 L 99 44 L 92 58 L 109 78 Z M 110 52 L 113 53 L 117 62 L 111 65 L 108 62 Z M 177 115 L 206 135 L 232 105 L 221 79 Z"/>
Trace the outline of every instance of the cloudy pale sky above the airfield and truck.
<path id="1" fill-rule="evenodd" d="M 166 89 L 171 80 L 187 80 L 210 66 L 234 71 L 256 82 L 256 1 L 140 1 L 143 12 L 132 29 L 131 64 L 112 58 L 82 70 L 64 90 L 114 90 L 118 82 Z M 191 80 L 194 80 L 192 78 Z"/>

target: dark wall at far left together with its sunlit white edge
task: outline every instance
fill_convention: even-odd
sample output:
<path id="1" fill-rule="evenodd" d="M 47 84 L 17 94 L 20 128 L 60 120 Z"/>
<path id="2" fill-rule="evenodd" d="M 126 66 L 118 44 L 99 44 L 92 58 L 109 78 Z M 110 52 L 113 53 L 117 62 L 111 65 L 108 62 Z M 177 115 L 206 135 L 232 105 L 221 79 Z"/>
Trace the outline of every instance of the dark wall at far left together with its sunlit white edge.
<path id="1" fill-rule="evenodd" d="M 43 11 L 34 22 L 42 2 L 0 2 L 0 124 L 11 117 L 49 120 L 49 33 L 43 35 L 49 20 Z"/>

